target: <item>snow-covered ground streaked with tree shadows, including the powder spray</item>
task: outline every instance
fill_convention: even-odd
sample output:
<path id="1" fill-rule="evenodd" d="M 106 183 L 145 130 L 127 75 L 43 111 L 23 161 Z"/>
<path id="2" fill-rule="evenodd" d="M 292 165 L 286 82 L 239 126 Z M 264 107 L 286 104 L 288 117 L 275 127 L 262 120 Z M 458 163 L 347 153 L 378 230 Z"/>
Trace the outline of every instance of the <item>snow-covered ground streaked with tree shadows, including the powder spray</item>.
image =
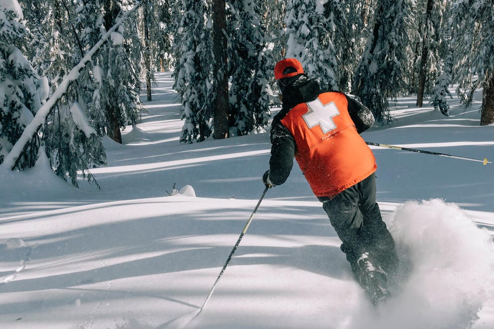
<path id="1" fill-rule="evenodd" d="M 101 190 L 65 183 L 45 157 L 0 172 L 0 328 L 494 328 L 494 165 L 374 147 L 378 201 L 413 267 L 401 294 L 370 306 L 295 165 L 193 318 L 263 192 L 270 142 L 179 144 L 172 78 L 157 82 L 125 145 L 105 140 Z M 480 99 L 444 117 L 400 98 L 395 123 L 362 136 L 492 161 Z"/>

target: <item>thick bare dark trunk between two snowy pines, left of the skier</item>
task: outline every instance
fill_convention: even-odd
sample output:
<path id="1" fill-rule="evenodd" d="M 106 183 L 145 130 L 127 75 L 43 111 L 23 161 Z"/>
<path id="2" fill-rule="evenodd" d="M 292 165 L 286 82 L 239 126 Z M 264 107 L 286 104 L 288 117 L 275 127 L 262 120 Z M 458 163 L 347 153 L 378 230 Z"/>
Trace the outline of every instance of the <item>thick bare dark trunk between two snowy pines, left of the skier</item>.
<path id="1" fill-rule="evenodd" d="M 226 54 L 226 3 L 213 0 L 214 118 L 215 139 L 228 137 L 228 72 Z"/>

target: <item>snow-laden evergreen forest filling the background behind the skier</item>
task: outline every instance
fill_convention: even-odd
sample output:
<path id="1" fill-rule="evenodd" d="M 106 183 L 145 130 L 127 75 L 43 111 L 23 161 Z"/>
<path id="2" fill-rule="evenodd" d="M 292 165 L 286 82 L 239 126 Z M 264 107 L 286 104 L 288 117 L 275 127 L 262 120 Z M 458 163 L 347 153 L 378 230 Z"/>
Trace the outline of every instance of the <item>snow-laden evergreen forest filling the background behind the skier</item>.
<path id="1" fill-rule="evenodd" d="M 408 94 L 449 115 L 455 84 L 467 105 L 483 90 L 491 125 L 493 17 L 489 0 L 0 0 L 0 164 L 45 152 L 57 175 L 96 182 L 102 137 L 139 122 L 156 71 L 174 72 L 181 142 L 265 131 L 285 57 L 380 124 Z"/>

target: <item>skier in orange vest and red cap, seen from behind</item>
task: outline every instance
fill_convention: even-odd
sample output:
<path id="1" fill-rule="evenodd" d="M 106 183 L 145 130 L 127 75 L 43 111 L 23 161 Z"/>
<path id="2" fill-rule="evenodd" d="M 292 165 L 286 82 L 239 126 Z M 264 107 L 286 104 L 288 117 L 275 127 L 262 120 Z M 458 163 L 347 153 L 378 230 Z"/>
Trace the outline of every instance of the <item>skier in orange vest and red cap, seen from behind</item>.
<path id="1" fill-rule="evenodd" d="M 376 161 L 359 135 L 374 124 L 374 116 L 341 92 L 321 92 L 294 58 L 276 64 L 275 79 L 283 106 L 271 125 L 263 182 L 283 184 L 295 157 L 342 241 L 355 279 L 377 305 L 390 295 L 397 256 L 376 202 Z"/>

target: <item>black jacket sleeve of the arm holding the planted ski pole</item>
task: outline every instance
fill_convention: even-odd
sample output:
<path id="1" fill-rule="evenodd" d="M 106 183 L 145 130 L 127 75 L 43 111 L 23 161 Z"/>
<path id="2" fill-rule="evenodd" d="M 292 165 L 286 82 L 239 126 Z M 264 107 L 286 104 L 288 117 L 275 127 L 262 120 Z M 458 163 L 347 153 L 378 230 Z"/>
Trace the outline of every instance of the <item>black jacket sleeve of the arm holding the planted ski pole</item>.
<path id="1" fill-rule="evenodd" d="M 287 180 L 294 165 L 295 140 L 276 117 L 271 125 L 271 144 L 268 178 L 273 185 L 281 185 Z"/>

